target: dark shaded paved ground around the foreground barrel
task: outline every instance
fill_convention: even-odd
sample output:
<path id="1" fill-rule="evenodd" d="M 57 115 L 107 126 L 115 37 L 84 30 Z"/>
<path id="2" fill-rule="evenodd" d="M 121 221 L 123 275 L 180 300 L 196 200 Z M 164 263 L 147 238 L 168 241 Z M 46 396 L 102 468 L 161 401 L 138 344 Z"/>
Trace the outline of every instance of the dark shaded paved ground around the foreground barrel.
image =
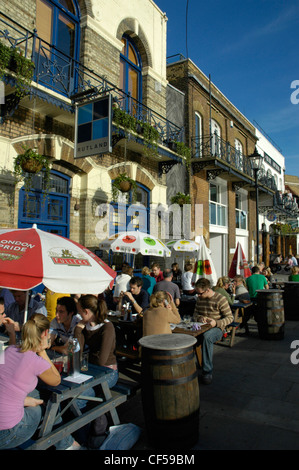
<path id="1" fill-rule="evenodd" d="M 299 365 L 292 364 L 292 353 L 299 360 L 299 321 L 286 321 L 282 340 L 262 340 L 252 320 L 249 336 L 237 333 L 233 348 L 215 345 L 213 382 L 200 385 L 193 450 L 299 449 Z M 119 412 L 121 422 L 142 428 L 133 449 L 151 450 L 140 392 Z"/>

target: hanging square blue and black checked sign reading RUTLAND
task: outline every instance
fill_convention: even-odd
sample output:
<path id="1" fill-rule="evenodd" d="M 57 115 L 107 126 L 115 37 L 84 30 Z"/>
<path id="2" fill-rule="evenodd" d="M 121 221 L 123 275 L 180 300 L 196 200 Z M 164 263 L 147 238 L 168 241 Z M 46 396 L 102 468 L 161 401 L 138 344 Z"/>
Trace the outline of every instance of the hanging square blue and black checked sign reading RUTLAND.
<path id="1" fill-rule="evenodd" d="M 111 95 L 76 107 L 75 158 L 112 152 Z"/>

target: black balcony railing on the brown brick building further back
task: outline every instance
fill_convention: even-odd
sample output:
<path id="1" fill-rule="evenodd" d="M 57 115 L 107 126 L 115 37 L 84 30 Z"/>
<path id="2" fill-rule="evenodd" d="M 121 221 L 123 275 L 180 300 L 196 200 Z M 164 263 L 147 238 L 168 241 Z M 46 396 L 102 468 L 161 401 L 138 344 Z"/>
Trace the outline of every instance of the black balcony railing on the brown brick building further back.
<path id="1" fill-rule="evenodd" d="M 211 162 L 217 159 L 228 167 L 243 173 L 244 176 L 254 178 L 250 158 L 217 134 L 193 138 L 192 159 L 193 161 L 210 160 Z M 274 177 L 261 171 L 258 174 L 258 182 L 271 190 L 277 189 Z"/>

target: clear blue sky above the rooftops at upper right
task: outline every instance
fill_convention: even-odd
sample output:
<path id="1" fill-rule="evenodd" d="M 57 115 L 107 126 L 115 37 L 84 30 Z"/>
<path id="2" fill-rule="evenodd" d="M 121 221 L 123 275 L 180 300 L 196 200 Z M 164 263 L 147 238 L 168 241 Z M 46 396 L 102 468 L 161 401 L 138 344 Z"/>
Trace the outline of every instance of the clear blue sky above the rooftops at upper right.
<path id="1" fill-rule="evenodd" d="M 187 0 L 155 3 L 168 17 L 167 55 L 188 55 L 211 75 L 299 176 L 298 0 L 189 0 L 187 37 Z"/>

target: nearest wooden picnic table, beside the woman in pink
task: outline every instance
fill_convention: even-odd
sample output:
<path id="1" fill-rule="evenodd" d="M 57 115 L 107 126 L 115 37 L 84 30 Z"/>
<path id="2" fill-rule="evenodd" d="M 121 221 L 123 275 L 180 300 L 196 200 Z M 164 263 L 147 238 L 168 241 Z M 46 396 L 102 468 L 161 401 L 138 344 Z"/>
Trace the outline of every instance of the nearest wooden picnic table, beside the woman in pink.
<path id="1" fill-rule="evenodd" d="M 112 373 L 112 369 L 103 370 L 103 368 L 89 364 L 88 371 L 81 372 L 80 377 L 83 382 L 76 383 L 69 381 L 66 375 L 62 375 L 61 384 L 57 387 L 47 387 L 49 392 L 49 400 L 47 401 L 45 415 L 41 424 L 37 440 L 26 448 L 26 450 L 44 450 L 48 449 L 63 437 L 72 434 L 77 429 L 82 428 L 95 418 L 105 413 L 110 413 L 113 424 L 119 424 L 119 417 L 116 407 L 127 400 L 126 395 L 113 392 L 107 383 L 108 374 Z M 86 379 L 84 380 L 84 375 Z M 85 396 L 84 392 L 91 387 L 98 386 L 101 390 L 101 397 Z M 76 400 L 84 399 L 97 403 L 92 409 L 82 411 L 79 409 Z M 55 422 L 63 413 L 71 408 L 74 418 L 61 425 Z"/>

